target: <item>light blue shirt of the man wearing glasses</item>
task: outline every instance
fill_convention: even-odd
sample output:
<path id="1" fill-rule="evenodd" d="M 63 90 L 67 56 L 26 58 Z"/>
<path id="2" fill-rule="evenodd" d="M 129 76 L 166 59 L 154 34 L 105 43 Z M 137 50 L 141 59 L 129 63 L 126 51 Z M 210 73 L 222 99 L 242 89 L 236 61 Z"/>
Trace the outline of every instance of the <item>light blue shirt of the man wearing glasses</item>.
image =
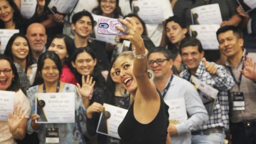
<path id="1" fill-rule="evenodd" d="M 189 118 L 182 123 L 176 124 L 178 135 L 171 137 L 171 142 L 174 144 L 191 144 L 191 131 L 196 130 L 208 121 L 208 113 L 193 85 L 187 80 L 179 78 L 176 75 L 173 76 L 174 77 L 165 94 L 164 100 L 166 101 L 183 97 Z M 170 79 L 171 77 L 169 80 Z M 168 82 L 165 87 L 167 85 Z M 161 94 L 163 94 L 163 91 L 161 91 Z"/>

